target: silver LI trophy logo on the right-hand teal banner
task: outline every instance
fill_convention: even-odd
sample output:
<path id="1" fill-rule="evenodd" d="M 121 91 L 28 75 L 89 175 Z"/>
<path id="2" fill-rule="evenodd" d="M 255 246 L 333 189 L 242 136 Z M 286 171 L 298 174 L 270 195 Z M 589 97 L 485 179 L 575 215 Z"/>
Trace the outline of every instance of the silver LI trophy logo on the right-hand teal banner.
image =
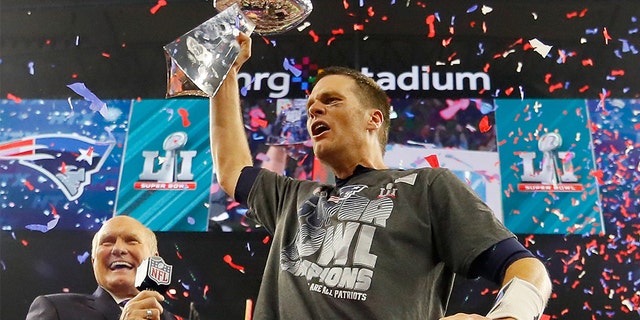
<path id="1" fill-rule="evenodd" d="M 540 171 L 535 171 L 536 152 L 516 152 L 522 159 L 523 174 L 518 190 L 524 192 L 581 192 L 584 186 L 577 183 L 573 163 L 575 154 L 571 151 L 558 151 L 562 146 L 562 136 L 548 132 L 538 140 L 538 150 L 542 152 Z"/>

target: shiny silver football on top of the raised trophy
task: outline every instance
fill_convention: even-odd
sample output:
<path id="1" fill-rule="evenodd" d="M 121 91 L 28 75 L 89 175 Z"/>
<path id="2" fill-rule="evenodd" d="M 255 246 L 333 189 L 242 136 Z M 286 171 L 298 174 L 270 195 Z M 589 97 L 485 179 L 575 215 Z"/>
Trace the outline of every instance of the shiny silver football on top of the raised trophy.
<path id="1" fill-rule="evenodd" d="M 251 19 L 259 35 L 283 33 L 306 19 L 313 5 L 311 0 L 214 0 L 213 5 L 223 11 L 234 3 Z"/>

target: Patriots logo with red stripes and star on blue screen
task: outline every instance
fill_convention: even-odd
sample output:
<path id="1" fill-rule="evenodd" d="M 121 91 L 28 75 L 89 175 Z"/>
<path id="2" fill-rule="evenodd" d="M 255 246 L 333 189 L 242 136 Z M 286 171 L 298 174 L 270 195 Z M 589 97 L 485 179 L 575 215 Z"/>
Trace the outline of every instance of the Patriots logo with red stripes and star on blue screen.
<path id="1" fill-rule="evenodd" d="M 82 196 L 115 144 L 77 134 L 35 135 L 0 142 L 0 161 L 17 161 L 37 170 L 73 201 Z"/>

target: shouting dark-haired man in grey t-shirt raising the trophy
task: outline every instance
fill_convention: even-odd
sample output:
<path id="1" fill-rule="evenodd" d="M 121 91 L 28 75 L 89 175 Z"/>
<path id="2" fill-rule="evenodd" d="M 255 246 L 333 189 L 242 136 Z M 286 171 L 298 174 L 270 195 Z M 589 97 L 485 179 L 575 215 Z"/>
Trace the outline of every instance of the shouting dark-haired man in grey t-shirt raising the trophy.
<path id="1" fill-rule="evenodd" d="M 237 58 L 208 95 L 211 152 L 222 189 L 273 235 L 255 319 L 542 316 L 544 265 L 469 186 L 444 168 L 387 168 L 389 98 L 356 70 L 322 70 L 306 103 L 314 155 L 335 185 L 254 167 L 237 78 L 251 39 L 236 40 Z M 486 316 L 443 318 L 454 275 L 502 286 Z"/>

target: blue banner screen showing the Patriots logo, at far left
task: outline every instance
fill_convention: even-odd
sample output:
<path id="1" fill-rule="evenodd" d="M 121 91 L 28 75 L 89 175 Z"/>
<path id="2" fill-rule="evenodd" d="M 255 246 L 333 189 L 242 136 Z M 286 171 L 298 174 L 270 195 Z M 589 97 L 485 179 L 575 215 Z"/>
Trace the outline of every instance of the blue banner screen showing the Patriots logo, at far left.
<path id="1" fill-rule="evenodd" d="M 114 215 L 131 100 L 0 100 L 0 228 L 96 230 Z"/>

